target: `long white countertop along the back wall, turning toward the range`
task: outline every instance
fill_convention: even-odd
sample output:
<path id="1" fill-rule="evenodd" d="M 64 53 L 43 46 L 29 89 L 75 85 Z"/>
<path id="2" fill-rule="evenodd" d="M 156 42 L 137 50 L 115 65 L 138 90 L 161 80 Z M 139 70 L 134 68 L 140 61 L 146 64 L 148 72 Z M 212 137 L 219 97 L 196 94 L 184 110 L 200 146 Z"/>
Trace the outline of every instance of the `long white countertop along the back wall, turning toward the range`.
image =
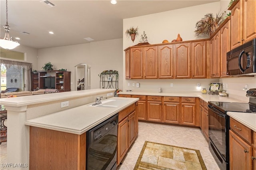
<path id="1" fill-rule="evenodd" d="M 222 97 L 219 95 L 208 95 L 208 94 L 202 94 L 200 92 L 186 92 L 186 91 L 173 91 L 168 93 L 157 93 L 157 92 L 126 92 L 122 91 L 118 94 L 124 94 L 124 95 L 148 95 L 148 96 L 172 96 L 172 97 L 199 97 L 200 99 L 204 100 L 205 102 L 208 101 L 220 101 L 220 102 L 237 102 L 237 103 L 248 103 L 246 101 L 233 99 L 230 97 Z"/>

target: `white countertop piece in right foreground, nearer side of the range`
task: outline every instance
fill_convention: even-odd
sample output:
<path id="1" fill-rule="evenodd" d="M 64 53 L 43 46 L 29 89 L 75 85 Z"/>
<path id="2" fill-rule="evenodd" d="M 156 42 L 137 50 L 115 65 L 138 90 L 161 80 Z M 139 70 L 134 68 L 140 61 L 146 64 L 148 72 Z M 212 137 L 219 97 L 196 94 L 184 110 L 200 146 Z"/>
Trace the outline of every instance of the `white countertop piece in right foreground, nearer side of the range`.
<path id="1" fill-rule="evenodd" d="M 256 132 L 256 113 L 227 112 L 227 114 Z"/>

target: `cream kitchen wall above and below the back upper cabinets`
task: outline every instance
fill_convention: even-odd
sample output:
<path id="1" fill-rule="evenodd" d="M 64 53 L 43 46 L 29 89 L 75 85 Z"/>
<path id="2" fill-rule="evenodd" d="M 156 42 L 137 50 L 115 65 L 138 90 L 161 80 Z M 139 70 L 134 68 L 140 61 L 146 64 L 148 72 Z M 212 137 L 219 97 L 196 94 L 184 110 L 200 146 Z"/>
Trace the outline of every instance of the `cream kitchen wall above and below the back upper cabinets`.
<path id="1" fill-rule="evenodd" d="M 168 40 L 169 42 L 171 42 L 172 40 L 177 38 L 178 34 L 180 34 L 183 41 L 205 38 L 198 38 L 195 36 L 194 30 L 196 22 L 203 18 L 205 14 L 216 14 L 218 13 L 219 10 L 220 2 L 214 2 L 210 4 L 192 6 L 178 10 L 124 19 L 123 32 L 125 33 L 125 30 L 130 28 L 131 26 L 138 26 L 139 35 L 136 37 L 134 43 L 132 43 L 130 37 L 126 38 L 124 34 L 123 49 L 126 49 L 129 46 L 136 45 L 137 43 L 139 43 L 140 36 L 141 34 L 143 34 L 143 31 L 145 31 L 148 37 L 148 42 L 150 44 L 162 43 L 163 40 Z M 124 52 L 123 57 L 125 57 Z M 125 68 L 125 60 L 123 62 L 123 65 Z M 218 82 L 218 79 L 124 79 L 124 90 L 147 89 L 152 91 L 158 91 L 159 87 L 161 87 L 163 91 L 196 91 L 196 83 L 201 83 L 201 86 L 203 88 L 209 89 L 209 83 Z M 128 83 L 130 83 L 130 86 L 128 86 Z M 132 83 L 140 83 L 140 88 L 133 87 Z M 170 87 L 170 83 L 174 83 L 174 86 Z"/>

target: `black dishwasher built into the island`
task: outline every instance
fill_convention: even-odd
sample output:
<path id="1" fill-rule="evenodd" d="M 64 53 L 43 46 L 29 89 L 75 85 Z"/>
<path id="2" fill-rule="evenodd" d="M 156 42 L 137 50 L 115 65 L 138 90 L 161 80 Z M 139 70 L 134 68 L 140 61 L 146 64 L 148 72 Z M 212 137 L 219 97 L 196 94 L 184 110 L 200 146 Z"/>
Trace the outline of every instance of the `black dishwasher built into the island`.
<path id="1" fill-rule="evenodd" d="M 86 132 L 86 170 L 116 170 L 118 114 Z"/>

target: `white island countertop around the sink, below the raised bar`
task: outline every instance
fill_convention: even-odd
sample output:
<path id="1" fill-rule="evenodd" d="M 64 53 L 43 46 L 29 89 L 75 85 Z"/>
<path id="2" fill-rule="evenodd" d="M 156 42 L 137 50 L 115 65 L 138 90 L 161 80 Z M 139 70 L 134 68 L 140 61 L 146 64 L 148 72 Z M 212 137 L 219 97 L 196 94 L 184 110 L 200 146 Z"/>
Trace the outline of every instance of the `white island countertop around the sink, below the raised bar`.
<path id="1" fill-rule="evenodd" d="M 25 125 L 83 134 L 139 100 L 138 98 L 124 97 L 112 97 L 110 99 L 124 100 L 124 103 L 118 105 L 118 107 L 92 107 L 89 106 L 91 103 L 27 120 L 25 121 Z"/>

